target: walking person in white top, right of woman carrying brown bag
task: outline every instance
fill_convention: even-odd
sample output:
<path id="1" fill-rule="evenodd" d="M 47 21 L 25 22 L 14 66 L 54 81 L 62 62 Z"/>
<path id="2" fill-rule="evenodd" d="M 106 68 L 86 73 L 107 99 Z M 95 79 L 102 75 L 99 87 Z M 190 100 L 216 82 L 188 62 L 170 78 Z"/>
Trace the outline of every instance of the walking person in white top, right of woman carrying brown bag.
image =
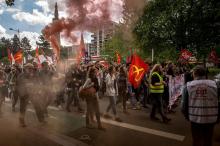
<path id="1" fill-rule="evenodd" d="M 118 94 L 118 87 L 115 76 L 115 68 L 113 66 L 109 67 L 109 73 L 105 79 L 106 82 L 106 96 L 109 98 L 109 105 L 104 114 L 105 118 L 110 118 L 109 110 L 112 109 L 115 121 L 121 122 L 122 120 L 117 116 L 116 112 L 116 96 Z"/>

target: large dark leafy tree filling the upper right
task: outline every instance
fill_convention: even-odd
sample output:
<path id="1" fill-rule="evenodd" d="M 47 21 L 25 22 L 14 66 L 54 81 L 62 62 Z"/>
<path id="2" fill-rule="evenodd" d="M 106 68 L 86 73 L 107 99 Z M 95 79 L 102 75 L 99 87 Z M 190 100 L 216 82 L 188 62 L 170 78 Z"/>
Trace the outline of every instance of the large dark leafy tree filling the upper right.
<path id="1" fill-rule="evenodd" d="M 134 33 L 142 48 L 190 48 L 201 58 L 220 44 L 219 8 L 218 0 L 152 0 Z"/>

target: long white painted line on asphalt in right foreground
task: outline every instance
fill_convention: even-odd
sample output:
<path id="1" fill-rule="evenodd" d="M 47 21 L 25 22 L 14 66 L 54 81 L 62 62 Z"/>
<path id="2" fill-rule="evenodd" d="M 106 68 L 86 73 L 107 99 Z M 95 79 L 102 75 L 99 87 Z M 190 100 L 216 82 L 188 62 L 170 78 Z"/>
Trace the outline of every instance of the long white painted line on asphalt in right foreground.
<path id="1" fill-rule="evenodd" d="M 164 132 L 164 131 L 155 130 L 155 129 L 151 129 L 151 128 L 136 126 L 136 125 L 132 125 L 132 124 L 128 124 L 128 123 L 116 122 L 113 120 L 106 120 L 103 118 L 101 119 L 101 121 L 104 123 L 107 123 L 107 124 L 114 125 L 114 126 L 132 129 L 135 131 L 144 132 L 144 133 L 152 134 L 152 135 L 157 135 L 157 136 L 161 136 L 161 137 L 165 137 L 165 138 L 169 138 L 169 139 L 173 139 L 173 140 L 177 140 L 177 141 L 183 141 L 185 139 L 185 136 L 170 133 L 170 132 Z"/>

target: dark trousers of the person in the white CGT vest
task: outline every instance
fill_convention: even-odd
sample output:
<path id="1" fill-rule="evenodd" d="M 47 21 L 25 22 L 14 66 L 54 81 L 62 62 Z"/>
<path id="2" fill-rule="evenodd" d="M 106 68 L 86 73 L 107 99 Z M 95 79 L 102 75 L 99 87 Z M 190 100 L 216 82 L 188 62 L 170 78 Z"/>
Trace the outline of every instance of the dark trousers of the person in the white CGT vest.
<path id="1" fill-rule="evenodd" d="M 212 146 L 214 125 L 191 123 L 193 146 Z"/>

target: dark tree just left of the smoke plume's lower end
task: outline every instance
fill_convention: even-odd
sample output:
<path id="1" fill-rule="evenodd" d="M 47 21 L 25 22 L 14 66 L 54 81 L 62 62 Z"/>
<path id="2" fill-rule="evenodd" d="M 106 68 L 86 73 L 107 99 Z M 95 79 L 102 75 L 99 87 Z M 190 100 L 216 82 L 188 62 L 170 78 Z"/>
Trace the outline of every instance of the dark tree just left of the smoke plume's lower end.
<path id="1" fill-rule="evenodd" d="M 40 50 L 40 53 L 44 52 L 48 56 L 53 54 L 53 51 L 50 49 L 50 43 L 44 38 L 42 34 L 39 36 L 39 41 L 36 41 L 36 44 Z"/>

